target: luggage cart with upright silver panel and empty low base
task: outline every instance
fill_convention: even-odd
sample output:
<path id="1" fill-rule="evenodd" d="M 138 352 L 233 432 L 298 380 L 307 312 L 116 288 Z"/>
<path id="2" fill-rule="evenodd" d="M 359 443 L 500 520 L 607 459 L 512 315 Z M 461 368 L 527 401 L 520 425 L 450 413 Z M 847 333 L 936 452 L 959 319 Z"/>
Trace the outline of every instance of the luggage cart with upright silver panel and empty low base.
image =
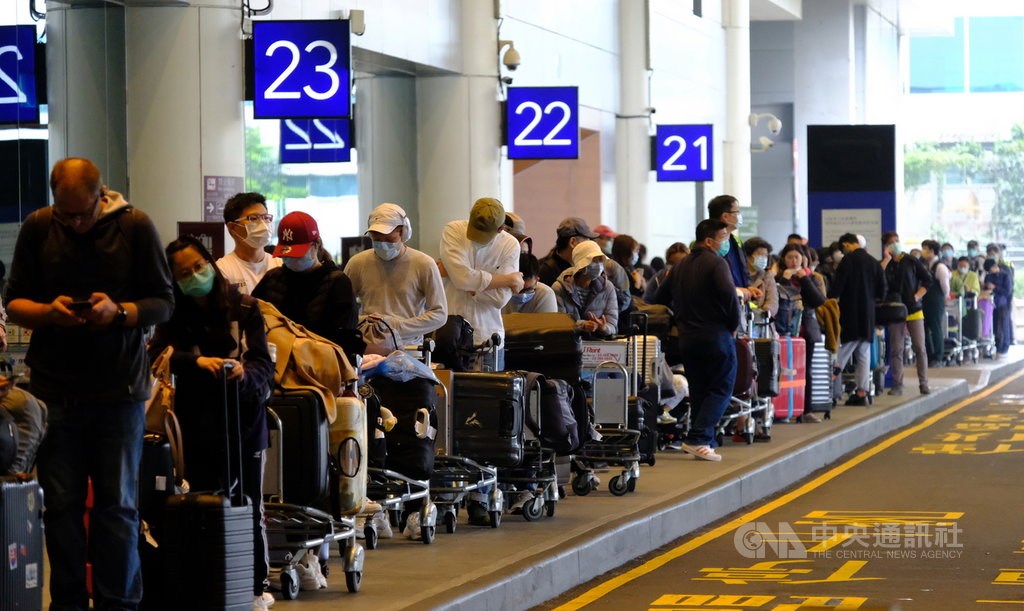
<path id="1" fill-rule="evenodd" d="M 629 348 L 633 354 L 631 362 L 637 363 L 635 336 L 630 338 Z M 618 475 L 608 481 L 608 491 L 615 496 L 622 496 L 636 490 L 636 482 L 640 477 L 640 428 L 644 425 L 642 422 L 637 422 L 639 426 L 634 428 L 631 426 L 631 421 L 642 420 L 643 416 L 638 413 L 636 419 L 631 418 L 629 401 L 631 381 L 636 384 L 636 366 L 628 370 L 615 360 L 605 360 L 598 363 L 592 372 L 592 404 L 599 438 L 587 440 L 572 457 L 575 471 L 572 477 L 572 491 L 579 496 L 586 496 L 592 490 L 596 490 L 600 485 L 600 480 L 595 475 L 597 465 L 607 465 L 622 469 Z M 600 386 L 609 386 L 608 382 L 602 383 L 602 380 L 615 384 L 615 378 L 602 377 L 602 373 L 617 374 L 616 377 L 622 383 L 622 398 L 615 395 L 614 401 L 600 399 L 603 394 Z"/>

